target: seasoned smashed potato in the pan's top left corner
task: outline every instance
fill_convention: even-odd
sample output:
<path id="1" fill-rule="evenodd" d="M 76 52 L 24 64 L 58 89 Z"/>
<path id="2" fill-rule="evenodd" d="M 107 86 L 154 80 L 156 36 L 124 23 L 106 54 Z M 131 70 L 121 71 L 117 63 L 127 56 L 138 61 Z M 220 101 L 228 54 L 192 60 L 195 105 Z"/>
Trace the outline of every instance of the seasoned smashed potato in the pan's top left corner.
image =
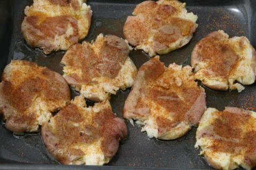
<path id="1" fill-rule="evenodd" d="M 31 47 L 43 53 L 68 50 L 85 38 L 91 26 L 91 7 L 85 0 L 34 0 L 26 6 L 21 31 Z"/>

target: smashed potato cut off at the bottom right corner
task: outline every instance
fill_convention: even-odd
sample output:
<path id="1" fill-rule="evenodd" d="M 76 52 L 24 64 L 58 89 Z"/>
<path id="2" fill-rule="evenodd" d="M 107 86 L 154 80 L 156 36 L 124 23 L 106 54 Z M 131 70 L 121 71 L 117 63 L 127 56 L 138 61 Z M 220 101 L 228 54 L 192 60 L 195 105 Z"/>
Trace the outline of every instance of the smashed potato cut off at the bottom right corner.
<path id="1" fill-rule="evenodd" d="M 226 107 L 207 108 L 196 132 L 196 148 L 216 169 L 252 169 L 256 165 L 256 113 Z"/>

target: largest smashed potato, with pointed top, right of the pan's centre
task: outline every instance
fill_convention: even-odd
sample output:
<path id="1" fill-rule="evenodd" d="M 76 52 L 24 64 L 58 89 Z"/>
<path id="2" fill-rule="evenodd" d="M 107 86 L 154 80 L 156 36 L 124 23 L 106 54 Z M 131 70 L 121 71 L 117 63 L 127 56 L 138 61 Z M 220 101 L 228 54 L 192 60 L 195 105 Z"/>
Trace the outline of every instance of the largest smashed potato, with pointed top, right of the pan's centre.
<path id="1" fill-rule="evenodd" d="M 165 67 L 155 56 L 142 64 L 124 104 L 123 117 L 143 125 L 149 137 L 171 140 L 198 124 L 205 111 L 203 88 L 190 66 Z"/>

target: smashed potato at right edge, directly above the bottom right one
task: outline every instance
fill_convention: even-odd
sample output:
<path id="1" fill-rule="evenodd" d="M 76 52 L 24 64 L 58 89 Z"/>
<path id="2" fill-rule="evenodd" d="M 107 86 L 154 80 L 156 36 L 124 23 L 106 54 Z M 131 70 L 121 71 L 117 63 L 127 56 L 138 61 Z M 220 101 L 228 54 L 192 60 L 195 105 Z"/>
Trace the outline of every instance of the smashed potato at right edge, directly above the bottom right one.
<path id="1" fill-rule="evenodd" d="M 214 31 L 199 41 L 192 54 L 195 77 L 213 90 L 238 90 L 255 81 L 256 52 L 246 37 L 228 38 Z M 235 83 L 239 82 L 239 83 Z"/>

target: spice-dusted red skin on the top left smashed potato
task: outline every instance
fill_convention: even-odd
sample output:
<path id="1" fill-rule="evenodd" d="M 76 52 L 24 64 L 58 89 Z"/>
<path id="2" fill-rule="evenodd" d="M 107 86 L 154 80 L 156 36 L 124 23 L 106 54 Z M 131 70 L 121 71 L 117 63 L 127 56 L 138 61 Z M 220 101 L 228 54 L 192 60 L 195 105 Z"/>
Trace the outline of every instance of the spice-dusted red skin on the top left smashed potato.
<path id="1" fill-rule="evenodd" d="M 55 35 L 61 36 L 65 34 L 68 23 L 72 25 L 74 31 L 73 35 L 67 37 L 69 46 L 78 42 L 78 26 L 74 18 L 67 16 L 51 17 L 40 25 L 37 25 L 37 20 L 38 17 L 25 17 L 21 24 L 23 37 L 31 47 L 42 48 L 45 54 L 58 50 L 67 50 L 66 48 L 58 49 L 59 47 L 51 43 L 51 41 L 53 41 Z M 58 25 L 58 23 L 62 23 L 62 25 Z M 62 29 L 55 29 L 58 27 L 62 27 Z"/>

